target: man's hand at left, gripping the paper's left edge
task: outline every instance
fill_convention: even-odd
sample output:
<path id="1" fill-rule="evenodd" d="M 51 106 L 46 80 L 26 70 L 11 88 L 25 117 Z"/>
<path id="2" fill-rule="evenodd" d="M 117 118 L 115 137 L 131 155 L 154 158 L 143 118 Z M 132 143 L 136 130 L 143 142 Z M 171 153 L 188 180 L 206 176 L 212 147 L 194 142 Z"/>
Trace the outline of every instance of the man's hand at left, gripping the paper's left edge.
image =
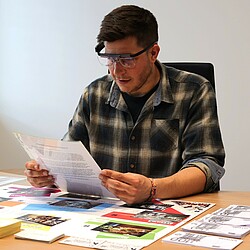
<path id="1" fill-rule="evenodd" d="M 41 169 L 39 164 L 32 160 L 25 164 L 24 174 L 27 176 L 28 182 L 34 187 L 46 187 L 54 184 L 54 177 L 49 174 L 46 169 Z"/>

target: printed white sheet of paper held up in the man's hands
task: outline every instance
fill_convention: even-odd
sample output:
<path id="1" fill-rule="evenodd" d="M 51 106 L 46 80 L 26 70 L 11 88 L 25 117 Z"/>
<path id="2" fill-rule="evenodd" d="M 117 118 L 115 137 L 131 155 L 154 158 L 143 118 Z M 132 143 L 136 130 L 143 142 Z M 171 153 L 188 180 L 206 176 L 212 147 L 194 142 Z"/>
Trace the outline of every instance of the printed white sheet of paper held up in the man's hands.
<path id="1" fill-rule="evenodd" d="M 101 169 L 81 142 L 14 135 L 29 157 L 50 171 L 62 190 L 114 198 L 101 185 L 98 178 Z"/>

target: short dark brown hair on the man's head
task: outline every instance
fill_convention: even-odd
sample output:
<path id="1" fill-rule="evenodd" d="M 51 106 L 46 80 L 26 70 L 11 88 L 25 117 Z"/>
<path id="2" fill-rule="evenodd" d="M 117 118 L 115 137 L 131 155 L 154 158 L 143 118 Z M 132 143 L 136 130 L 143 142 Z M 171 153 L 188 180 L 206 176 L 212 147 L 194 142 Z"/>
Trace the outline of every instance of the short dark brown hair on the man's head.
<path id="1" fill-rule="evenodd" d="M 145 47 L 158 41 L 158 24 L 154 15 L 135 5 L 123 5 L 107 14 L 100 27 L 97 42 L 113 42 L 133 36 Z"/>

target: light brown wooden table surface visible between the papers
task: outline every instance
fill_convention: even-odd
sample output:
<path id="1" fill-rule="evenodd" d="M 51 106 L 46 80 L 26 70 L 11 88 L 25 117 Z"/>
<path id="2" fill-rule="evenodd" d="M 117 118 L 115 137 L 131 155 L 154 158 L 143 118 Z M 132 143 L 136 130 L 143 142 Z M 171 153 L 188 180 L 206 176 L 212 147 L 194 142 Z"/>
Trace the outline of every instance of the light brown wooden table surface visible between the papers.
<path id="1" fill-rule="evenodd" d="M 23 170 L 0 170 L 0 175 L 5 175 L 6 172 L 10 175 L 23 174 Z M 16 182 L 16 184 L 25 184 L 26 181 Z M 202 213 L 196 218 L 202 217 L 207 213 L 211 213 L 219 208 L 227 207 L 228 205 L 237 204 L 237 205 L 248 205 L 250 206 L 250 192 L 235 192 L 235 191 L 219 191 L 216 193 L 209 194 L 198 194 L 189 197 L 182 198 L 182 200 L 187 201 L 196 201 L 196 202 L 209 202 L 215 203 L 216 205 L 209 209 L 208 211 Z M 175 231 L 179 231 L 176 229 Z M 173 232 L 175 232 L 173 231 Z M 173 233 L 171 232 L 171 233 Z M 164 236 L 165 237 L 165 236 Z M 64 245 L 54 242 L 52 244 L 37 242 L 37 241 L 28 241 L 28 240 L 17 240 L 13 235 L 0 239 L 0 248 L 1 250 L 79 250 L 79 249 L 90 249 L 79 246 Z M 164 243 L 161 239 L 157 240 L 153 244 L 143 248 L 145 250 L 155 250 L 155 249 L 171 249 L 171 250 L 191 250 L 191 249 L 205 249 L 200 247 L 185 246 L 179 244 L 170 244 Z M 250 234 L 243 238 L 243 242 L 236 248 L 236 250 L 249 250 L 250 249 Z"/>

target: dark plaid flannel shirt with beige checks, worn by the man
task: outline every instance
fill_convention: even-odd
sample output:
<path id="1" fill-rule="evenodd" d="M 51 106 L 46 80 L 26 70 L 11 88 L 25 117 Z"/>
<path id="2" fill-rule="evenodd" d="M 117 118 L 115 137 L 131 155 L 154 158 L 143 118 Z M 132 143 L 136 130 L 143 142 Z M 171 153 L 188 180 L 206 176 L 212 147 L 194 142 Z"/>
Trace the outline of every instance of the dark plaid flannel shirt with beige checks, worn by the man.
<path id="1" fill-rule="evenodd" d="M 159 87 L 136 123 L 106 75 L 85 88 L 63 139 L 81 141 L 102 169 L 160 178 L 196 166 L 204 192 L 214 191 L 225 172 L 215 92 L 201 76 L 156 64 Z"/>

